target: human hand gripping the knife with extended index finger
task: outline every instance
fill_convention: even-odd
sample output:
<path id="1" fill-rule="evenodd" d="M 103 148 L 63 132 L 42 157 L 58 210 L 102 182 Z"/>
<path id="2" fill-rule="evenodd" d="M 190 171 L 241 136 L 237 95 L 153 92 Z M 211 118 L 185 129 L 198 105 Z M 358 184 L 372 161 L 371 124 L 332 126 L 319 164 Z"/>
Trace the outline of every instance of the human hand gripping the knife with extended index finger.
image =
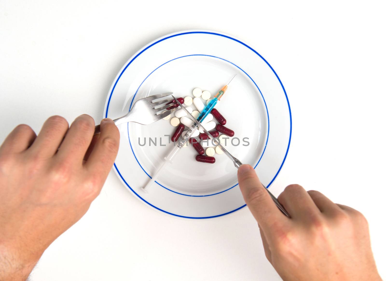
<path id="1" fill-rule="evenodd" d="M 240 190 L 256 218 L 269 262 L 285 281 L 381 280 L 372 256 L 366 218 L 318 191 L 289 185 L 279 211 L 254 169 L 242 165 Z"/>

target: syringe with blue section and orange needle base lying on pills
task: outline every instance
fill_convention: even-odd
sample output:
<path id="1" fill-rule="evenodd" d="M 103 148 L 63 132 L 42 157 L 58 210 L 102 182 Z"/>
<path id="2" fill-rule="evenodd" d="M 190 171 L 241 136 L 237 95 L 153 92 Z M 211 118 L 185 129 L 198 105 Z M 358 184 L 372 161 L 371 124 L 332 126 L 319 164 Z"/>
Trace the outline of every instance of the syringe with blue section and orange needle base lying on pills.
<path id="1" fill-rule="evenodd" d="M 229 83 L 233 80 L 233 78 L 235 78 L 237 74 L 235 74 L 232 79 L 228 82 L 227 85 L 223 86 L 221 88 L 220 91 L 218 91 L 218 93 L 214 96 L 214 98 L 207 104 L 207 106 L 202 110 L 202 112 L 200 113 L 200 115 L 198 115 L 197 117 L 197 120 L 199 122 L 202 122 L 205 117 L 208 116 L 208 114 L 212 111 L 212 109 L 215 107 L 215 105 L 217 104 L 217 102 L 220 100 L 220 98 L 224 95 L 225 91 L 227 91 L 228 89 L 228 85 Z M 181 137 L 179 138 L 178 140 L 178 144 L 177 146 L 175 146 L 173 148 L 173 150 L 168 154 L 168 156 L 165 157 L 165 160 L 164 163 L 162 164 L 161 167 L 159 167 L 159 169 L 156 171 L 156 173 L 154 174 L 154 176 L 150 179 L 150 181 L 147 183 L 147 185 L 145 187 L 142 188 L 142 190 L 146 191 L 147 188 L 152 185 L 152 183 L 154 183 L 154 181 L 156 180 L 157 176 L 161 173 L 161 171 L 166 167 L 166 165 L 168 163 L 171 163 L 171 161 L 173 160 L 174 156 L 177 155 L 177 153 L 180 151 L 180 149 L 184 146 L 184 144 L 191 138 L 191 135 L 193 135 L 193 132 L 195 132 L 195 130 L 197 130 L 198 127 L 197 127 L 197 124 L 196 123 L 193 123 L 190 128 L 186 131 L 186 133 L 184 135 L 181 135 Z"/>

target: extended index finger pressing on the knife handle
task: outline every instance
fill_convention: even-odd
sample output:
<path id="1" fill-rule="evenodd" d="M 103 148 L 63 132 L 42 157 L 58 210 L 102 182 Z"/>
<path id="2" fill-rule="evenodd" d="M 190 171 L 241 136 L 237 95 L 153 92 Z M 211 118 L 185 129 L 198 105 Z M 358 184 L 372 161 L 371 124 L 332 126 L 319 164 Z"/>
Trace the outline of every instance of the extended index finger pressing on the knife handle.
<path id="1" fill-rule="evenodd" d="M 265 233 L 271 233 L 274 227 L 288 220 L 276 207 L 250 165 L 241 165 L 237 171 L 237 177 L 245 203 Z"/>

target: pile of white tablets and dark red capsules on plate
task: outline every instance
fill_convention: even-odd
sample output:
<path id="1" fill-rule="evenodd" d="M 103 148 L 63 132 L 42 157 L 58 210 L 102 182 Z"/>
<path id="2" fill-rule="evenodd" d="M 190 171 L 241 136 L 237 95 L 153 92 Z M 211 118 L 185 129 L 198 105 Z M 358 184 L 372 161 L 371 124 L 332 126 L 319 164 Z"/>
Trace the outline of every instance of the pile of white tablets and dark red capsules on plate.
<path id="1" fill-rule="evenodd" d="M 203 111 L 205 105 L 201 99 L 203 99 L 206 104 L 212 100 L 211 93 L 209 91 L 202 91 L 200 88 L 195 88 L 193 90 L 193 96 L 186 96 L 185 98 L 177 98 L 180 103 L 183 103 L 186 107 L 186 110 L 193 115 L 193 117 L 197 118 L 200 115 L 200 112 Z M 172 100 L 170 103 L 175 103 L 175 100 Z M 196 108 L 194 109 L 193 106 Z M 178 103 L 173 104 L 171 107 L 168 107 L 167 110 L 178 107 Z M 177 142 L 181 135 L 185 134 L 185 126 L 190 127 L 194 122 L 190 118 L 186 117 L 187 113 L 183 109 L 176 110 L 174 112 L 174 117 L 171 115 L 166 116 L 164 119 L 169 120 L 170 124 L 176 127 L 176 130 L 171 136 L 172 142 Z M 218 124 L 216 124 L 215 120 L 217 120 Z M 223 117 L 223 115 L 218 112 L 216 108 L 213 108 L 211 113 L 205 117 L 205 119 L 201 122 L 203 127 L 215 138 L 218 138 L 221 144 L 224 144 L 224 139 L 228 137 L 233 137 L 235 132 L 224 125 L 227 124 L 227 120 Z M 213 130 L 215 129 L 215 130 Z M 220 135 L 222 133 L 222 135 Z M 200 140 L 197 140 L 198 137 Z M 196 156 L 196 161 L 203 163 L 215 163 L 215 154 L 223 154 L 220 146 L 215 146 L 212 140 L 209 139 L 209 136 L 204 133 L 204 130 L 199 128 L 195 130 L 193 135 L 191 135 L 191 139 L 189 140 L 192 147 L 196 150 L 198 155 Z M 185 144 L 183 147 L 186 147 Z M 204 149 L 206 147 L 206 149 Z M 204 155 L 206 154 L 206 155 Z"/>

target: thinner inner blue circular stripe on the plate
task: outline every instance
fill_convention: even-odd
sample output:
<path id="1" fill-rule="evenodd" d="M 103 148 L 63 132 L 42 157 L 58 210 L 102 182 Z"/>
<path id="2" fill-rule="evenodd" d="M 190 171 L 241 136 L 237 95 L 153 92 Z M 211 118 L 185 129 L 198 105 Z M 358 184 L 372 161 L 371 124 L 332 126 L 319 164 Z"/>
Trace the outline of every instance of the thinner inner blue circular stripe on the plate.
<path id="1" fill-rule="evenodd" d="M 130 107 L 129 107 L 129 111 L 131 110 L 131 107 L 132 107 L 132 104 L 133 104 L 133 102 L 134 102 L 135 96 L 137 95 L 137 93 L 138 93 L 139 89 L 141 88 L 142 84 L 146 81 L 147 78 L 149 78 L 149 76 L 150 76 L 152 73 L 154 73 L 154 71 L 156 71 L 158 68 L 160 68 L 161 66 L 163 66 L 163 65 L 165 65 L 165 64 L 167 64 L 167 63 L 169 63 L 169 62 L 171 62 L 171 61 L 174 61 L 174 60 L 180 59 L 180 58 L 190 57 L 190 56 L 207 56 L 207 57 L 217 58 L 217 59 L 221 59 L 221 60 L 223 60 L 223 61 L 226 61 L 227 63 L 230 63 L 230 64 L 234 65 L 235 67 L 237 67 L 238 69 L 240 69 L 242 72 L 244 72 L 245 75 L 247 75 L 247 76 L 249 77 L 249 79 L 251 79 L 251 81 L 254 83 L 254 85 L 256 86 L 257 90 L 259 90 L 259 93 L 260 93 L 261 97 L 263 98 L 264 105 L 265 105 L 265 107 L 266 107 L 266 111 L 267 111 L 267 121 L 268 121 L 267 139 L 266 139 L 266 143 L 265 143 L 265 145 L 264 145 L 264 150 L 263 150 L 263 152 L 262 152 L 262 154 L 261 154 L 261 156 L 260 156 L 260 158 L 259 158 L 259 161 L 257 161 L 257 164 L 259 164 L 259 162 L 260 162 L 260 160 L 261 160 L 261 157 L 264 155 L 265 149 L 266 149 L 266 147 L 267 147 L 268 137 L 269 137 L 269 114 L 268 114 L 267 104 L 266 104 L 266 102 L 265 102 L 265 99 L 264 99 L 263 94 L 262 94 L 261 91 L 260 91 L 259 86 L 257 86 L 257 84 L 256 84 L 255 81 L 251 78 L 251 76 L 249 76 L 248 73 L 246 73 L 246 72 L 245 72 L 243 69 L 241 69 L 239 66 L 237 66 L 236 64 L 234 64 L 234 63 L 232 63 L 232 62 L 230 62 L 230 61 L 227 61 L 226 59 L 219 58 L 219 57 L 216 57 L 216 56 L 204 55 L 204 54 L 192 54 L 192 55 L 186 55 L 186 56 L 181 56 L 181 57 L 178 57 L 178 58 L 174 58 L 174 59 L 171 59 L 170 61 L 167 61 L 166 63 L 161 64 L 161 65 L 158 66 L 156 69 L 154 69 L 149 75 L 147 75 L 146 78 L 145 78 L 145 79 L 142 81 L 142 83 L 139 85 L 139 87 L 138 87 L 137 90 L 135 91 L 135 94 L 134 94 L 134 96 L 133 96 L 133 98 L 132 98 L 132 100 L 131 100 Z M 133 149 L 133 147 L 132 147 L 132 145 L 131 145 L 131 140 L 130 140 L 130 135 L 129 135 L 129 123 L 127 123 L 127 135 L 129 136 L 129 144 L 130 144 L 131 151 L 132 151 L 133 154 L 134 154 L 135 160 L 137 161 L 138 165 L 141 167 L 142 171 L 144 171 L 145 174 L 147 174 L 147 176 L 148 176 L 149 178 L 152 178 L 152 177 L 145 171 L 145 169 L 142 167 L 141 163 L 139 163 L 139 161 L 138 161 L 138 159 L 137 159 L 137 156 L 135 156 L 134 149 Z M 254 169 L 256 168 L 257 164 L 254 166 Z M 163 188 L 165 188 L 165 189 L 167 189 L 167 190 L 169 190 L 169 191 L 171 191 L 171 192 L 174 192 L 174 193 L 179 194 L 179 195 L 191 196 L 191 197 L 206 197 L 206 196 L 217 195 L 217 194 L 223 193 L 223 192 L 225 192 L 225 191 L 228 191 L 228 190 L 230 190 L 231 188 L 234 188 L 235 186 L 237 186 L 237 185 L 239 184 L 239 183 L 236 183 L 234 186 L 231 186 L 230 188 L 227 188 L 226 190 L 223 190 L 223 191 L 220 191 L 220 192 L 217 192 L 217 193 L 213 193 L 213 194 L 207 194 L 207 195 L 190 195 L 190 194 L 179 193 L 179 192 L 177 192 L 177 191 L 174 191 L 174 190 L 171 190 L 171 189 L 167 188 L 166 186 L 161 185 L 161 184 L 160 184 L 159 182 L 157 182 L 157 181 L 155 181 L 155 182 L 156 182 L 158 185 L 162 186 Z"/>

